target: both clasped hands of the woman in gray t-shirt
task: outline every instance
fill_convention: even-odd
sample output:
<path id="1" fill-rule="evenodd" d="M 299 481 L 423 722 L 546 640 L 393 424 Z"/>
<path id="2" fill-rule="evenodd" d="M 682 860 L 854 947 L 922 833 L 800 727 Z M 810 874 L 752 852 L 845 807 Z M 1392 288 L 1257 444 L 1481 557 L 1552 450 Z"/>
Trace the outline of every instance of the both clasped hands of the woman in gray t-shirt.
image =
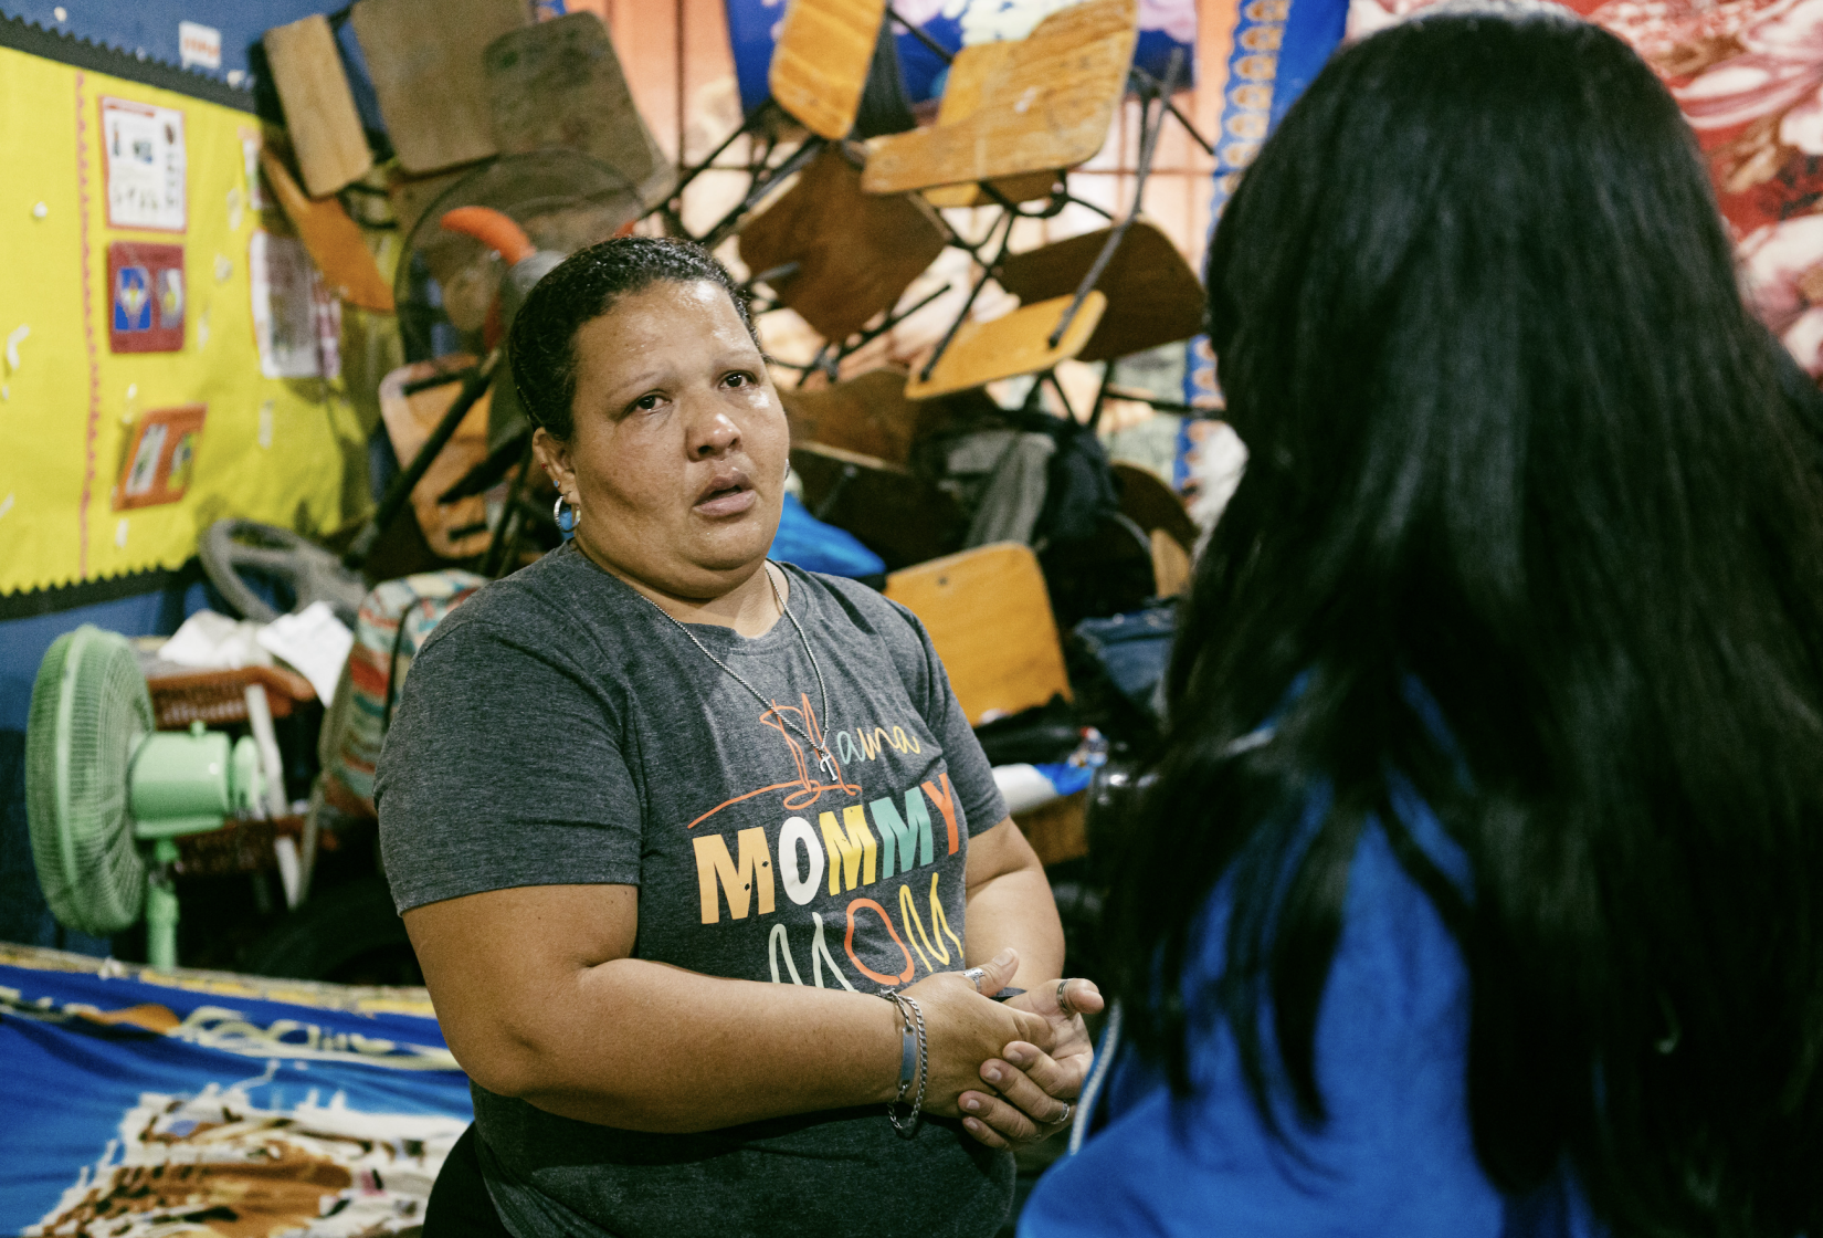
<path id="1" fill-rule="evenodd" d="M 1094 1057 L 1083 1016 L 1103 1005 L 1087 979 L 1045 981 L 1004 1003 L 981 997 L 999 992 L 1017 965 L 1003 950 L 979 992 L 961 972 L 904 990 L 930 1025 L 924 1109 L 961 1118 L 968 1134 L 997 1149 L 1035 1143 L 1066 1125 Z"/>

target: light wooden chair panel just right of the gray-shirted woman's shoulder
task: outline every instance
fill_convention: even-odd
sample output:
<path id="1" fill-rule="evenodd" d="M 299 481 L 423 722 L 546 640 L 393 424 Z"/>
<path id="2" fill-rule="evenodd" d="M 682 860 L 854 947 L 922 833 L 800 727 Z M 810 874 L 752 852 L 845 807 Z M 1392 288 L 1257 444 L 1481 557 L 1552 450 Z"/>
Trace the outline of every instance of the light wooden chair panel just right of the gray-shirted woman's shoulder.
<path id="1" fill-rule="evenodd" d="M 1032 549 L 997 542 L 886 578 L 924 624 L 970 726 L 1070 696 L 1045 574 Z"/>

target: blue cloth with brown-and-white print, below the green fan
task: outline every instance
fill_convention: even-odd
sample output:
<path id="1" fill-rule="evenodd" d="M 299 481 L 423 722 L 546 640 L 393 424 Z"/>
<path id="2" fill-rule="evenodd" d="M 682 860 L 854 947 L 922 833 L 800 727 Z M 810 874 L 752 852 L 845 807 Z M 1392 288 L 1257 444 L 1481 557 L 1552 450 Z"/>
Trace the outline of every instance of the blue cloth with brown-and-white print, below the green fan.
<path id="1" fill-rule="evenodd" d="M 472 1119 L 423 990 L 0 944 L 0 1063 L 5 1234 L 401 1233 Z"/>

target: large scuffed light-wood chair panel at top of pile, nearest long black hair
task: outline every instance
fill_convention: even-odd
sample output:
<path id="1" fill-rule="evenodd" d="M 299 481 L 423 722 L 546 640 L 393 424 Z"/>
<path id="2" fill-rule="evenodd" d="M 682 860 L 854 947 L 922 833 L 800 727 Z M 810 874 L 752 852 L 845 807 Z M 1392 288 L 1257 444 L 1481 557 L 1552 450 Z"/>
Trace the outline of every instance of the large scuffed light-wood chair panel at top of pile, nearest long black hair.
<path id="1" fill-rule="evenodd" d="M 1052 13 L 984 66 L 979 104 L 955 124 L 873 140 L 860 188 L 930 190 L 1092 159 L 1127 93 L 1139 0 L 1085 0 Z"/>

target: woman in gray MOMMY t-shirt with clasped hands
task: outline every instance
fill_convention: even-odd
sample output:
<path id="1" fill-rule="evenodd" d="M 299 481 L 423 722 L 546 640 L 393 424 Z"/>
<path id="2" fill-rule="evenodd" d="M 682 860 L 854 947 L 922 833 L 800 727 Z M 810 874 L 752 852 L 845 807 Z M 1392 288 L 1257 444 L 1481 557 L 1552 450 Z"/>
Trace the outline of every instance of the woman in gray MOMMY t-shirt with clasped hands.
<path id="1" fill-rule="evenodd" d="M 1101 999 L 930 638 L 766 560 L 789 436 L 706 252 L 571 257 L 510 356 L 574 542 L 427 642 L 376 789 L 459 1163 L 520 1238 L 994 1233 Z"/>

